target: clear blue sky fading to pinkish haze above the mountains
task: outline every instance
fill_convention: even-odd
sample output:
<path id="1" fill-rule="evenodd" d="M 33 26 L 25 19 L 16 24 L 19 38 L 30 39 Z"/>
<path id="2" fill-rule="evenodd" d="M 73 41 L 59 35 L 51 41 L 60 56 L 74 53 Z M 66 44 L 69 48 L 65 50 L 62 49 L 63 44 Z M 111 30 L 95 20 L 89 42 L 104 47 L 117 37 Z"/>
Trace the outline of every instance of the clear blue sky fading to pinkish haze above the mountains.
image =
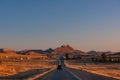
<path id="1" fill-rule="evenodd" d="M 120 51 L 120 0 L 0 0 L 0 47 Z"/>

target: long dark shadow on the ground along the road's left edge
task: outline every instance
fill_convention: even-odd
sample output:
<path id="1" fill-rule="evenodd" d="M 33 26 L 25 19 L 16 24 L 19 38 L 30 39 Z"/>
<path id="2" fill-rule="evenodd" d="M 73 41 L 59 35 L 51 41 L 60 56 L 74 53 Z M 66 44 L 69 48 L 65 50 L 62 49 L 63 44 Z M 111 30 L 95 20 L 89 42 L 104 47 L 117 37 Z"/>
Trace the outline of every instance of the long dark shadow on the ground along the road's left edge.
<path id="1" fill-rule="evenodd" d="M 25 80 L 31 76 L 43 73 L 45 71 L 47 71 L 49 69 L 32 69 L 32 70 L 28 70 L 26 72 L 20 72 L 18 74 L 15 75 L 11 75 L 11 76 L 0 76 L 0 80 Z"/>

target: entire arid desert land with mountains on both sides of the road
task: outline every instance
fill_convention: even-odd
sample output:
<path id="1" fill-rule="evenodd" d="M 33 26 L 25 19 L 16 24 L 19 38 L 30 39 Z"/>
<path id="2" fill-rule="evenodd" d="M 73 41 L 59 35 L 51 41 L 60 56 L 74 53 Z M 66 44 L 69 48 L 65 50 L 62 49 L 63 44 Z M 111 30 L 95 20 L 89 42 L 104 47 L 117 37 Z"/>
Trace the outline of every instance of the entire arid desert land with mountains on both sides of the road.
<path id="1" fill-rule="evenodd" d="M 105 59 L 102 53 L 106 54 Z M 117 54 L 117 58 L 115 58 L 115 54 Z M 16 52 L 3 48 L 0 53 L 0 77 L 3 80 L 4 78 L 9 80 L 11 77 L 16 79 L 30 78 L 31 75 L 41 74 L 56 68 L 60 56 L 64 57 L 65 62 L 63 64 L 68 68 L 120 79 L 120 56 L 118 53 L 83 52 L 69 45 L 40 51 L 40 53 L 36 50 Z M 97 59 L 97 61 L 93 59 Z"/>

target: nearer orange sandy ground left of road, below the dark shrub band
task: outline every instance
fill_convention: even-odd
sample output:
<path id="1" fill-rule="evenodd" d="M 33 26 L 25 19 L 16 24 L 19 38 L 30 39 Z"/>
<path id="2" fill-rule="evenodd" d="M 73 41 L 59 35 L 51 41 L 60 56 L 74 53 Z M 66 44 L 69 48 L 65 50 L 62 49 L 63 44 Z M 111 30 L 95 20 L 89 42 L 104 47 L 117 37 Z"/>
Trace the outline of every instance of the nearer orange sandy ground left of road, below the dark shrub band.
<path id="1" fill-rule="evenodd" d="M 47 69 L 54 67 L 55 61 L 20 61 L 20 62 L 2 62 L 0 63 L 0 76 L 10 76 L 26 72 L 32 69 Z"/>

